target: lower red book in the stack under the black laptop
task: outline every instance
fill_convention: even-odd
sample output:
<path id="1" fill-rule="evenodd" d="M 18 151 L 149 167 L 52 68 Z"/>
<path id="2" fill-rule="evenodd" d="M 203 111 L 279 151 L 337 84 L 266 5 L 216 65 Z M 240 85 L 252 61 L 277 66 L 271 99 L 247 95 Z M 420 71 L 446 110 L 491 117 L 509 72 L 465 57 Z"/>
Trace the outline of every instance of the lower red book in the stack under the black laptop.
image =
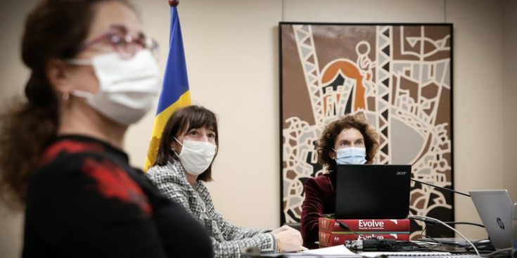
<path id="1" fill-rule="evenodd" d="M 371 239 L 371 238 L 379 238 L 379 239 L 395 239 L 408 241 L 409 240 L 409 232 L 407 233 L 397 233 L 397 232 L 380 232 L 380 233 L 360 233 L 360 236 L 357 236 L 356 233 L 340 233 L 340 234 L 331 234 L 325 232 L 319 232 L 319 247 L 331 247 L 334 245 L 343 245 L 346 240 L 357 240 L 357 239 Z"/>

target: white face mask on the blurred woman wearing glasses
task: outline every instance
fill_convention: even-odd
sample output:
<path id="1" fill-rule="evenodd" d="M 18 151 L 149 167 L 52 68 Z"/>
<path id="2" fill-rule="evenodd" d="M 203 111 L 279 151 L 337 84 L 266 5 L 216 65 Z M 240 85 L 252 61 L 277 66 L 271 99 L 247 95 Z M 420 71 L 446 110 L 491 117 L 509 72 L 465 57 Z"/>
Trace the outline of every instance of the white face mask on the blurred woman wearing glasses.
<path id="1" fill-rule="evenodd" d="M 160 70 L 151 51 L 142 49 L 131 59 L 116 52 L 103 53 L 91 60 L 72 59 L 73 65 L 93 65 L 98 93 L 74 90 L 102 115 L 119 124 L 134 124 L 153 108 L 160 89 Z"/>

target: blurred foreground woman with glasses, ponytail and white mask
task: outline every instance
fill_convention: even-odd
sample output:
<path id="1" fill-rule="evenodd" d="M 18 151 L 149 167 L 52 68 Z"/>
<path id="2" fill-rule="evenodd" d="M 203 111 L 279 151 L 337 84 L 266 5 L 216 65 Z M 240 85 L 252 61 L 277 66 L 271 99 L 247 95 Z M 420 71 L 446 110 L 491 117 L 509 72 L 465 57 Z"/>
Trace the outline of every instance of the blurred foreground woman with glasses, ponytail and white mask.
<path id="1" fill-rule="evenodd" d="M 156 47 L 125 0 L 43 0 L 28 15 L 27 100 L 0 120 L 0 196 L 25 206 L 23 257 L 212 257 L 205 228 L 124 152 L 158 93 Z"/>

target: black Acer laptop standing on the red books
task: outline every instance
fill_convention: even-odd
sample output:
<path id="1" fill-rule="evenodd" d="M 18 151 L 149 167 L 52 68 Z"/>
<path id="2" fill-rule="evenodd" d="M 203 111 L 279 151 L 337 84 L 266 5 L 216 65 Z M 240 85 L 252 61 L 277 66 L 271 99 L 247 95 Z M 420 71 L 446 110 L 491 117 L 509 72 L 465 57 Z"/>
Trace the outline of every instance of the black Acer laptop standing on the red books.
<path id="1" fill-rule="evenodd" d="M 405 219 L 411 165 L 338 165 L 336 219 Z"/>

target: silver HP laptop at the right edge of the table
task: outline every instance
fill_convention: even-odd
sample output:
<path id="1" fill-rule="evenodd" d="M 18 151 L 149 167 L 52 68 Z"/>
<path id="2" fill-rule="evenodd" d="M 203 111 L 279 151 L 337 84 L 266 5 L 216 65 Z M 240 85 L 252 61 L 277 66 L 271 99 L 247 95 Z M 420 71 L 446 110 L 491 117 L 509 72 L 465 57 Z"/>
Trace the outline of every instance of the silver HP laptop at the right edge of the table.
<path id="1" fill-rule="evenodd" d="M 496 249 L 511 247 L 512 202 L 506 190 L 468 191 Z"/>

